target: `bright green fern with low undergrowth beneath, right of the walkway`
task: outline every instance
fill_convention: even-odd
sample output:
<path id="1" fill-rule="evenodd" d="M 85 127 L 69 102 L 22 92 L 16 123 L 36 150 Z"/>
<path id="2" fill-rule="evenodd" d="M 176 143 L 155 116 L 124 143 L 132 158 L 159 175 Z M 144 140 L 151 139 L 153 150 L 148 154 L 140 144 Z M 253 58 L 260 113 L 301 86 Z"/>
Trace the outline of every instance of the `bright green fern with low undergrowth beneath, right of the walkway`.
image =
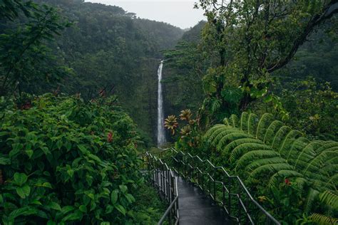
<path id="1" fill-rule="evenodd" d="M 212 157 L 240 175 L 280 221 L 294 224 L 311 212 L 337 216 L 338 142 L 308 140 L 270 114 L 243 112 L 224 122 L 205 134 Z M 319 197 L 323 204 L 314 204 Z"/>

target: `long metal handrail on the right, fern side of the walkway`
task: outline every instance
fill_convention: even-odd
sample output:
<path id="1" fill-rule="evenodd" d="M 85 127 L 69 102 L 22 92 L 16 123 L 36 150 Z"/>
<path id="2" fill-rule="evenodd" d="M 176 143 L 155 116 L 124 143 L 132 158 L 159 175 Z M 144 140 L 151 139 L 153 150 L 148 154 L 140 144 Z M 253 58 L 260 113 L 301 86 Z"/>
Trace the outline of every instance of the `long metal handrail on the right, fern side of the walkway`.
<path id="1" fill-rule="evenodd" d="M 188 178 L 190 182 L 197 184 L 222 208 L 230 219 L 238 224 L 280 224 L 269 212 L 253 199 L 242 180 L 238 176 L 230 176 L 224 167 L 216 167 L 208 159 L 203 160 L 198 155 L 178 152 L 173 148 L 165 149 L 164 152 L 172 152 L 170 157 L 164 160 L 173 159 L 172 165 L 175 172 Z M 162 162 L 162 161 L 161 161 Z M 252 219 L 250 213 L 259 216 Z M 255 220 L 255 221 L 254 221 Z"/>

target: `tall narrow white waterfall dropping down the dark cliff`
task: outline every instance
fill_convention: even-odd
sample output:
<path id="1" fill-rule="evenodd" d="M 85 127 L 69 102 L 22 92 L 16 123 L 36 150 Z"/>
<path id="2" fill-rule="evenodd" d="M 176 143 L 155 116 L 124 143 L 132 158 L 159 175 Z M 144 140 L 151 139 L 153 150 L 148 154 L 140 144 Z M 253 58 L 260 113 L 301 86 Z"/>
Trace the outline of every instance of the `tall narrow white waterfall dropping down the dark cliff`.
<path id="1" fill-rule="evenodd" d="M 162 94 L 162 70 L 163 61 L 160 61 L 158 67 L 158 147 L 165 143 L 164 135 L 164 113 L 163 113 L 163 94 Z"/>

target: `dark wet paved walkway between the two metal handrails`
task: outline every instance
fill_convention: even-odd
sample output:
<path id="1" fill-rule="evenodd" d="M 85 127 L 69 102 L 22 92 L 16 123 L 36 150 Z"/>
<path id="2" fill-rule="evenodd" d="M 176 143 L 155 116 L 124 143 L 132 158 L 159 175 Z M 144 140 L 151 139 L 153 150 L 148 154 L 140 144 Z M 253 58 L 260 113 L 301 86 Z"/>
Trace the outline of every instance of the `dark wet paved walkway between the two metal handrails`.
<path id="1" fill-rule="evenodd" d="M 180 225 L 230 224 L 219 206 L 182 177 L 178 177 L 178 209 Z"/>

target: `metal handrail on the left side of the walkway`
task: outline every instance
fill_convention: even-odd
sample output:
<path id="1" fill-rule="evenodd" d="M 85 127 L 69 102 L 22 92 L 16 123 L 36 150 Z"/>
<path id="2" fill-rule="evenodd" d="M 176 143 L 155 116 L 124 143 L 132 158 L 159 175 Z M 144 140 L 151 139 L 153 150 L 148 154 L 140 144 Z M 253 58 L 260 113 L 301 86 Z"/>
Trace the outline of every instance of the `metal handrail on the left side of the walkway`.
<path id="1" fill-rule="evenodd" d="M 168 220 L 168 224 L 178 224 L 178 181 L 168 164 L 149 152 L 145 152 L 150 183 L 169 204 L 168 209 L 158 221 L 158 225 Z"/>

